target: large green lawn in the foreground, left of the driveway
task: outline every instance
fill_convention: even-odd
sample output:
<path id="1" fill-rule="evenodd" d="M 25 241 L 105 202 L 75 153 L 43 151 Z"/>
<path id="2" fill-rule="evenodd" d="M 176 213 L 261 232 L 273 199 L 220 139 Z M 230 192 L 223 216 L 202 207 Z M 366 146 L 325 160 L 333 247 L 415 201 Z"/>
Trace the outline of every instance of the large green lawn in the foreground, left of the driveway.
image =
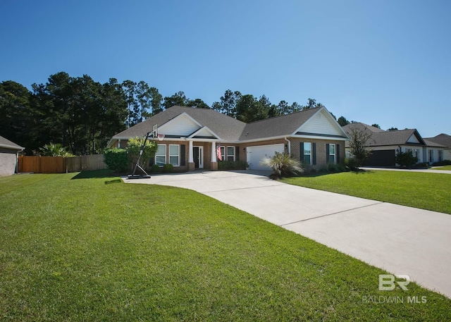
<path id="1" fill-rule="evenodd" d="M 442 295 L 380 292 L 378 268 L 202 194 L 104 172 L 0 178 L 0 244 L 1 321 L 451 321 Z"/>

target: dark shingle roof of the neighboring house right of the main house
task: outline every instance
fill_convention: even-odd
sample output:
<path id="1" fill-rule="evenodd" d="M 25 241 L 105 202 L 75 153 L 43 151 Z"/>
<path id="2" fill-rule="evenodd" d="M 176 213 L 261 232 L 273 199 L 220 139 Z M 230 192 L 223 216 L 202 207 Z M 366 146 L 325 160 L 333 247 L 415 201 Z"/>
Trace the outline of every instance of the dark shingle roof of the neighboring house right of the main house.
<path id="1" fill-rule="evenodd" d="M 353 128 L 371 133 L 371 138 L 368 140 L 369 147 L 380 147 L 385 145 L 426 145 L 426 142 L 424 142 L 416 129 L 384 131 L 372 126 L 369 127 L 369 125 L 364 123 L 350 123 L 343 127 L 349 135 L 351 135 Z"/>

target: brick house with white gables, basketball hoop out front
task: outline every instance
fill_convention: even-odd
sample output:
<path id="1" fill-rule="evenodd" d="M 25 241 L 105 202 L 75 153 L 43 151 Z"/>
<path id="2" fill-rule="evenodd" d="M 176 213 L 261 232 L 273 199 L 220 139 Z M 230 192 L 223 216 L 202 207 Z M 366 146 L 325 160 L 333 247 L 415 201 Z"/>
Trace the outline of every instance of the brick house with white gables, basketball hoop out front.
<path id="1" fill-rule="evenodd" d="M 254 170 L 267 170 L 260 162 L 276 151 L 320 168 L 343 163 L 349 140 L 325 107 L 247 124 L 211 109 L 173 106 L 114 135 L 108 147 L 125 147 L 130 137 L 143 137 L 154 125 L 164 139 L 153 162 L 171 163 L 176 171 L 216 170 L 218 150 L 223 161 L 245 161 Z"/>

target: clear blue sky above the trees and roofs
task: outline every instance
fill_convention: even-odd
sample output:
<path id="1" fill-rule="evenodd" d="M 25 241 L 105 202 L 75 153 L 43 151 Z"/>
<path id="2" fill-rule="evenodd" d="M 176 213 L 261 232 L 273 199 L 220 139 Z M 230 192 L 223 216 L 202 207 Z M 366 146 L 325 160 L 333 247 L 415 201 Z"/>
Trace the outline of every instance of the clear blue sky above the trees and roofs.
<path id="1" fill-rule="evenodd" d="M 451 2 L 0 0 L 0 81 L 66 71 L 211 105 L 226 89 L 451 134 Z"/>

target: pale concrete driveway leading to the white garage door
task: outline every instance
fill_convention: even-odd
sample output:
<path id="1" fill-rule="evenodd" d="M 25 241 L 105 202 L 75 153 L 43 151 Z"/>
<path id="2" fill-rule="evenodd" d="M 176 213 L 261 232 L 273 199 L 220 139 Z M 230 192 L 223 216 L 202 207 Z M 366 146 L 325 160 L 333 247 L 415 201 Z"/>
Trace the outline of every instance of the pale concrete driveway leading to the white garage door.
<path id="1" fill-rule="evenodd" d="M 269 174 L 204 171 L 124 180 L 195 190 L 451 297 L 451 215 L 287 185 Z M 378 276 L 374 280 L 376 292 Z"/>

